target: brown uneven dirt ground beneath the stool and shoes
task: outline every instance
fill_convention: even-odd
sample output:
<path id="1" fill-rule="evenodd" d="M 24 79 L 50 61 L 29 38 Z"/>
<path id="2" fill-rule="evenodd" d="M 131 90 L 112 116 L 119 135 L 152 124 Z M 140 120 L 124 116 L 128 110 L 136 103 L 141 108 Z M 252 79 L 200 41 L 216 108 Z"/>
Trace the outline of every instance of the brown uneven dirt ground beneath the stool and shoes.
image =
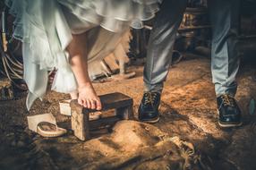
<path id="1" fill-rule="evenodd" d="M 48 92 L 30 110 L 25 94 L 0 103 L 0 169 L 256 169 L 255 62 L 243 62 L 236 99 L 243 126 L 220 129 L 211 83 L 210 60 L 187 55 L 174 65 L 166 80 L 161 119 L 153 125 L 137 122 L 143 94 L 141 65 L 126 81 L 95 83 L 98 94 L 122 92 L 134 101 L 135 121 L 123 121 L 110 133 L 81 142 L 69 131 L 64 137 L 43 139 L 27 128 L 27 115 L 52 113 L 60 126 L 70 118 L 59 115 L 58 102 L 68 95 Z M 194 149 L 192 147 L 194 146 Z"/>

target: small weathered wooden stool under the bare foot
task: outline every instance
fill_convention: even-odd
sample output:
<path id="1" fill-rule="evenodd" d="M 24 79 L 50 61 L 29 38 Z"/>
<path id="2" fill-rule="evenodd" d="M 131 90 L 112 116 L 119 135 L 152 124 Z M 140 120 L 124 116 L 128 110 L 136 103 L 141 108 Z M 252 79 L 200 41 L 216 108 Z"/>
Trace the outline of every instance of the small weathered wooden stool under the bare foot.
<path id="1" fill-rule="evenodd" d="M 99 96 L 99 98 L 103 106 L 101 111 L 115 109 L 115 116 L 90 121 L 90 113 L 97 111 L 82 107 L 78 104 L 77 100 L 73 100 L 71 102 L 72 129 L 74 135 L 80 140 L 90 139 L 90 129 L 96 129 L 97 127 L 106 126 L 107 124 L 113 124 L 122 119 L 132 119 L 133 117 L 132 98 L 122 93 L 106 94 Z"/>

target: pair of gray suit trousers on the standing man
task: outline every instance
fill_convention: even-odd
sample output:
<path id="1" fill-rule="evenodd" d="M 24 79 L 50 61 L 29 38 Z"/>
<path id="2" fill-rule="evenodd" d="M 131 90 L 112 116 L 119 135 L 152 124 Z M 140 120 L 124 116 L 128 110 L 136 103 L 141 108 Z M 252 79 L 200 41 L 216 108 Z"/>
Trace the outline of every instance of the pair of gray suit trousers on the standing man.
<path id="1" fill-rule="evenodd" d="M 217 96 L 235 96 L 239 68 L 237 36 L 239 0 L 209 0 L 212 24 L 211 71 Z M 161 93 L 172 61 L 175 35 L 183 18 L 186 0 L 164 0 L 149 38 L 144 68 L 145 91 Z"/>

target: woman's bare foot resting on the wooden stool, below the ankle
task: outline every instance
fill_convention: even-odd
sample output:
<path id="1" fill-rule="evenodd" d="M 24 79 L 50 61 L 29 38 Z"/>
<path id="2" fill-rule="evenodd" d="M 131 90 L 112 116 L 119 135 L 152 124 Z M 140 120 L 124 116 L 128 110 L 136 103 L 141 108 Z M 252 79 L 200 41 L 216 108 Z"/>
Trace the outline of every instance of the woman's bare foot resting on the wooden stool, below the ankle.
<path id="1" fill-rule="evenodd" d="M 101 102 L 90 83 L 83 84 L 78 89 L 78 103 L 89 109 L 101 110 Z"/>

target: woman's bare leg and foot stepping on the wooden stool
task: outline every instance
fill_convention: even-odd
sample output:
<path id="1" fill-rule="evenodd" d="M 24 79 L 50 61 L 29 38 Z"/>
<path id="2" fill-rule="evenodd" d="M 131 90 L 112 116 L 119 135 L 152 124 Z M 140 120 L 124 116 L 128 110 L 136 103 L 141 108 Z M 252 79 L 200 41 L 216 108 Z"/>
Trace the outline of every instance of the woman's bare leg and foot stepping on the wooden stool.
<path id="1" fill-rule="evenodd" d="M 101 109 L 100 100 L 93 89 L 88 74 L 86 33 L 73 35 L 73 41 L 67 47 L 70 64 L 78 82 L 78 103 L 90 109 Z"/>

